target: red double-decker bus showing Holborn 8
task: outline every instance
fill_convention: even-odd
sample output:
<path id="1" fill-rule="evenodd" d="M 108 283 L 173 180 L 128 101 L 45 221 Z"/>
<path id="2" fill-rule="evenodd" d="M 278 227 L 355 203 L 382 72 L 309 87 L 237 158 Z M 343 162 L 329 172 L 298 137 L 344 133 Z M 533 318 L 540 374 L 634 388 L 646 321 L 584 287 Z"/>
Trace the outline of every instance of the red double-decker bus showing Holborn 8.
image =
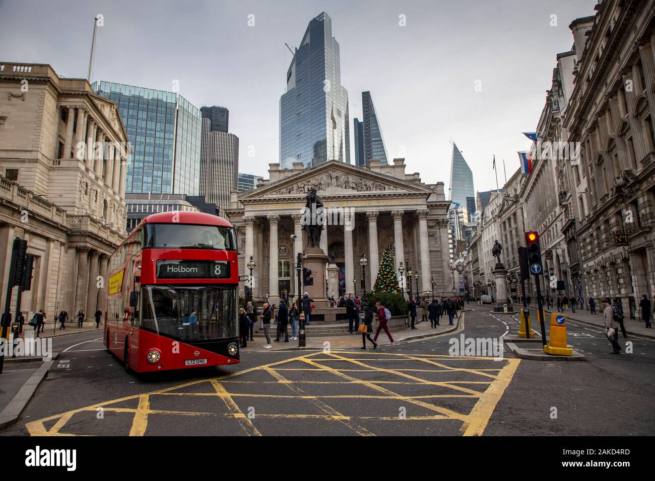
<path id="1" fill-rule="evenodd" d="M 215 215 L 149 215 L 109 258 L 104 344 L 125 369 L 239 362 L 232 225 Z"/>

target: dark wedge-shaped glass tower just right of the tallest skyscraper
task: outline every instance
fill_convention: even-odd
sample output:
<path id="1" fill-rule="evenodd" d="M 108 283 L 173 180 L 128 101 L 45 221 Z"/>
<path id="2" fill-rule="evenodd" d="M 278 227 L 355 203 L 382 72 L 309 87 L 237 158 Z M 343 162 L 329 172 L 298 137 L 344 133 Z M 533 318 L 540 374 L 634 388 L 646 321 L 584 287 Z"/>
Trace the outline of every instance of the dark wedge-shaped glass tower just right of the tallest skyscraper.
<path id="1" fill-rule="evenodd" d="M 388 155 L 371 92 L 362 92 L 362 113 L 362 122 L 355 119 L 355 164 L 364 166 L 371 160 L 380 160 L 381 165 L 386 166 Z"/>

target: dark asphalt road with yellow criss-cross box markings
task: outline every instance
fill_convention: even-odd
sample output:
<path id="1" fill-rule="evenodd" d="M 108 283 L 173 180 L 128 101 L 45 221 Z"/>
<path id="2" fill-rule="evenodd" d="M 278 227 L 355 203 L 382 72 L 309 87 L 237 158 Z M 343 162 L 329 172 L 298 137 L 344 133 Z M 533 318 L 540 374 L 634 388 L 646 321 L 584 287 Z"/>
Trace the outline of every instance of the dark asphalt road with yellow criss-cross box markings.
<path id="1" fill-rule="evenodd" d="M 126 374 L 101 334 L 60 351 L 19 423 L 1 435 L 653 435 L 655 343 L 610 354 L 569 324 L 586 361 L 451 355 L 451 340 L 498 340 L 512 317 L 474 306 L 456 332 L 375 351 L 242 351 L 239 365 Z M 382 334 L 384 339 L 384 334 Z M 624 340 L 621 340 L 624 344 Z"/>

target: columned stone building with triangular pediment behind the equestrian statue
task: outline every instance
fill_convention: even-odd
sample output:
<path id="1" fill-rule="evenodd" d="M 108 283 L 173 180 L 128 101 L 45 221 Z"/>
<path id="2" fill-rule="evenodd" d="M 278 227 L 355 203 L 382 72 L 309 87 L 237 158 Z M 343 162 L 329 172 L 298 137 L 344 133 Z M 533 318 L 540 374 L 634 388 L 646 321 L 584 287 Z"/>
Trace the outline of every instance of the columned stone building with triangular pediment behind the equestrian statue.
<path id="1" fill-rule="evenodd" d="M 280 295 L 297 296 L 295 254 L 307 247 L 302 222 L 309 188 L 316 188 L 332 212 L 352 215 L 352 229 L 326 220 L 320 242 L 326 255 L 335 254 L 342 293 L 352 292 L 354 285 L 356 293 L 362 293 L 362 254 L 368 260 L 364 285 L 370 291 L 381 255 L 384 249 L 391 249 L 396 268 L 409 259 L 412 270 L 419 273 L 421 293 L 432 291 L 434 281 L 437 294 L 451 294 L 449 201 L 443 183 L 426 185 L 418 173 L 405 173 L 404 159 L 384 166 L 373 160 L 365 168 L 337 161 L 309 169 L 302 163 L 293 164 L 293 169 L 270 164 L 269 177 L 255 190 L 233 192 L 226 212 L 236 226 L 241 274 L 249 274 L 245 263 L 251 256 L 257 264 L 253 270 L 255 298 L 269 294 L 278 302 Z M 296 235 L 295 241 L 291 234 Z M 416 293 L 417 281 L 412 282 Z M 403 285 L 409 287 L 406 281 Z"/>

